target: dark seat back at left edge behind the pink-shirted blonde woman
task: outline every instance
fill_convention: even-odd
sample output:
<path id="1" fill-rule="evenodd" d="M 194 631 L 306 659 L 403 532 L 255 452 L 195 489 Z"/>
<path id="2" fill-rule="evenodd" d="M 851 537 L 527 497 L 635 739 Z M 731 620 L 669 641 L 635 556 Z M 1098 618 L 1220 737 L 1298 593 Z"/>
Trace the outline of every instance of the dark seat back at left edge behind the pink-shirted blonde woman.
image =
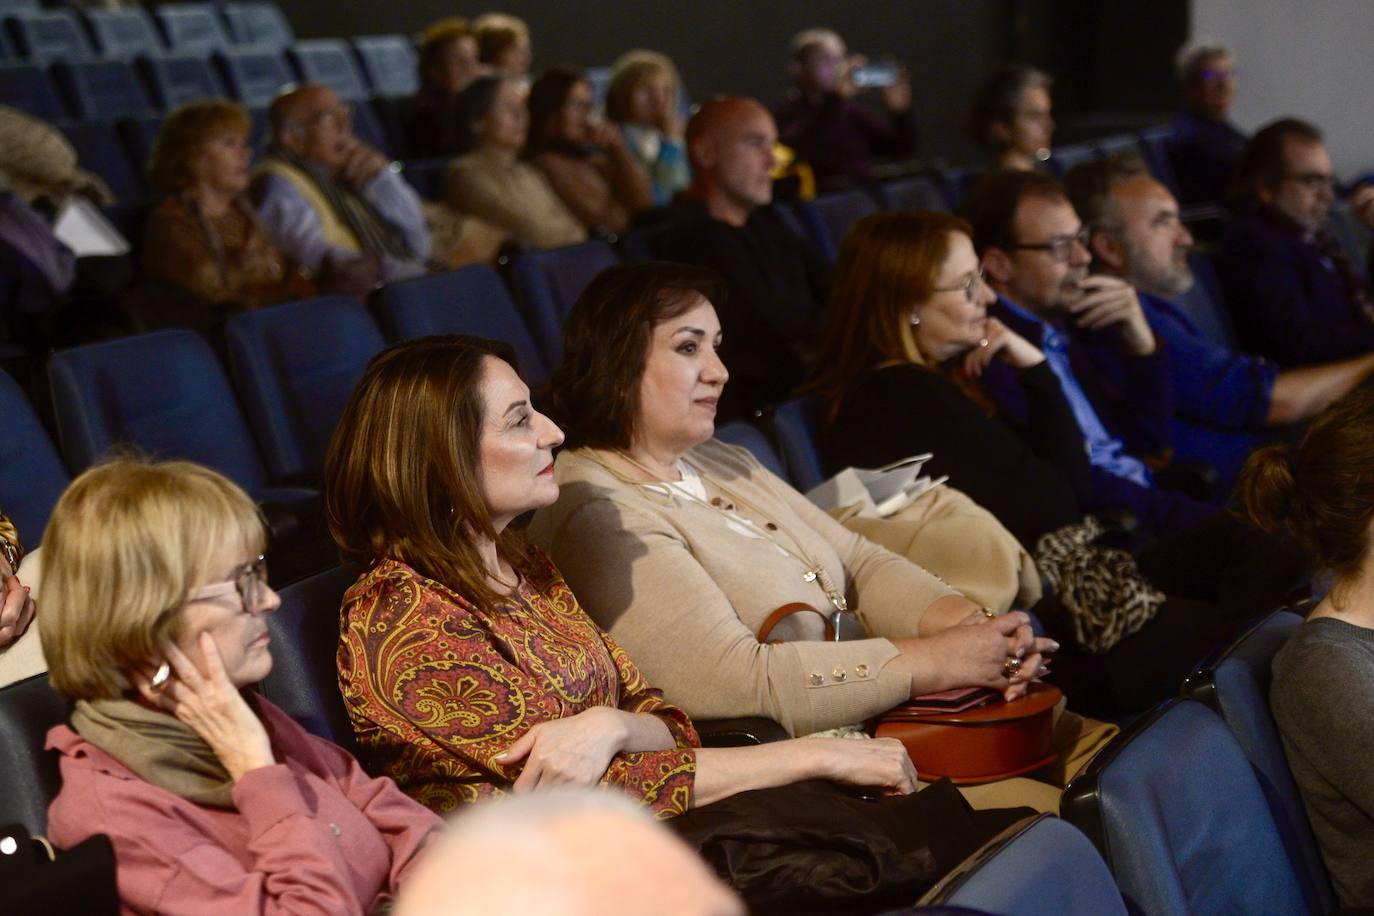
<path id="1" fill-rule="evenodd" d="M 48 831 L 48 805 L 62 788 L 55 751 L 43 748 L 48 729 L 67 721 L 67 705 L 34 674 L 0 688 L 0 824 L 19 823 L 33 834 Z"/>

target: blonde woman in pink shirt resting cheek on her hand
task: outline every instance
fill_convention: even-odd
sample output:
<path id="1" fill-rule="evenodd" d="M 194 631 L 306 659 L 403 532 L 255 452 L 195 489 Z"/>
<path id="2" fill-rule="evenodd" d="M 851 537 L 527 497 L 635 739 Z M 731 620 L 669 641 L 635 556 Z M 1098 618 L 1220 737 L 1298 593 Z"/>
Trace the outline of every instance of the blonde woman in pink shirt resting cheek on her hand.
<path id="1" fill-rule="evenodd" d="M 371 913 L 438 818 L 247 688 L 272 667 L 265 531 L 188 463 L 96 466 L 44 534 L 60 846 L 107 834 L 128 912 Z"/>

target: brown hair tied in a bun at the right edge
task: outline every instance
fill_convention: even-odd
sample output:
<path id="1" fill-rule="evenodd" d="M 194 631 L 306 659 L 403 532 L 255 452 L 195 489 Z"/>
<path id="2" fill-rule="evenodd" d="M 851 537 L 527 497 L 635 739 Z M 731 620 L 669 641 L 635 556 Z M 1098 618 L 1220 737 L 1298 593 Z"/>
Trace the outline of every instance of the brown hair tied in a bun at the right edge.
<path id="1" fill-rule="evenodd" d="M 1338 577 L 1359 573 L 1374 520 L 1374 390 L 1326 408 L 1297 455 L 1270 445 L 1245 463 L 1241 505 L 1267 531 L 1287 527 Z"/>

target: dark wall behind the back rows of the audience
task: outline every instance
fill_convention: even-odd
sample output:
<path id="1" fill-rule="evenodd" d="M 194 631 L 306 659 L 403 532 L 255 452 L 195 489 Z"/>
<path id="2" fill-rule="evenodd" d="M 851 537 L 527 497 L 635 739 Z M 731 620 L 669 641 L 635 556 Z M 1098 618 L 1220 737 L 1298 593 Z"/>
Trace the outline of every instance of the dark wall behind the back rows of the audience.
<path id="1" fill-rule="evenodd" d="M 301 37 L 416 33 L 444 15 L 500 8 L 529 23 L 536 71 L 602 66 L 629 48 L 654 48 L 673 58 L 698 99 L 724 92 L 763 100 L 780 96 L 787 88 L 789 38 L 798 29 L 827 25 L 845 36 L 852 51 L 892 54 L 907 63 L 926 151 L 955 161 L 973 155 L 965 130 L 973 87 L 1009 56 L 1055 76 L 1057 115 L 1068 135 L 1077 115 L 1096 113 L 1107 99 L 1118 99 L 1114 107 L 1138 119 L 1167 111 L 1169 56 L 1187 21 L 1187 0 L 506 0 L 499 5 L 282 0 L 282 5 Z"/>

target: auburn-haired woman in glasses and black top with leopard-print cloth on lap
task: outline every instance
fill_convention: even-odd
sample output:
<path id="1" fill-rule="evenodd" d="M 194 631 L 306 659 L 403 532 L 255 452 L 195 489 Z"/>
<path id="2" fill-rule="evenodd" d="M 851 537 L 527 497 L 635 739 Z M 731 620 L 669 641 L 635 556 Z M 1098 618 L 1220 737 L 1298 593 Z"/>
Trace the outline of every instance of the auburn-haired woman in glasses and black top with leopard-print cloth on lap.
<path id="1" fill-rule="evenodd" d="M 988 317 L 969 224 L 944 213 L 881 213 L 845 238 L 813 382 L 831 468 L 932 452 L 925 471 L 991 511 L 1047 584 L 1036 612 L 1062 648 L 1055 683 L 1090 715 L 1172 695 L 1234 629 L 1204 602 L 1167 596 L 1124 551 L 1102 548 L 1080 503 L 1088 456 L 1058 378 L 1033 343 Z M 993 360 L 1015 369 L 1029 422 L 980 387 Z"/>

